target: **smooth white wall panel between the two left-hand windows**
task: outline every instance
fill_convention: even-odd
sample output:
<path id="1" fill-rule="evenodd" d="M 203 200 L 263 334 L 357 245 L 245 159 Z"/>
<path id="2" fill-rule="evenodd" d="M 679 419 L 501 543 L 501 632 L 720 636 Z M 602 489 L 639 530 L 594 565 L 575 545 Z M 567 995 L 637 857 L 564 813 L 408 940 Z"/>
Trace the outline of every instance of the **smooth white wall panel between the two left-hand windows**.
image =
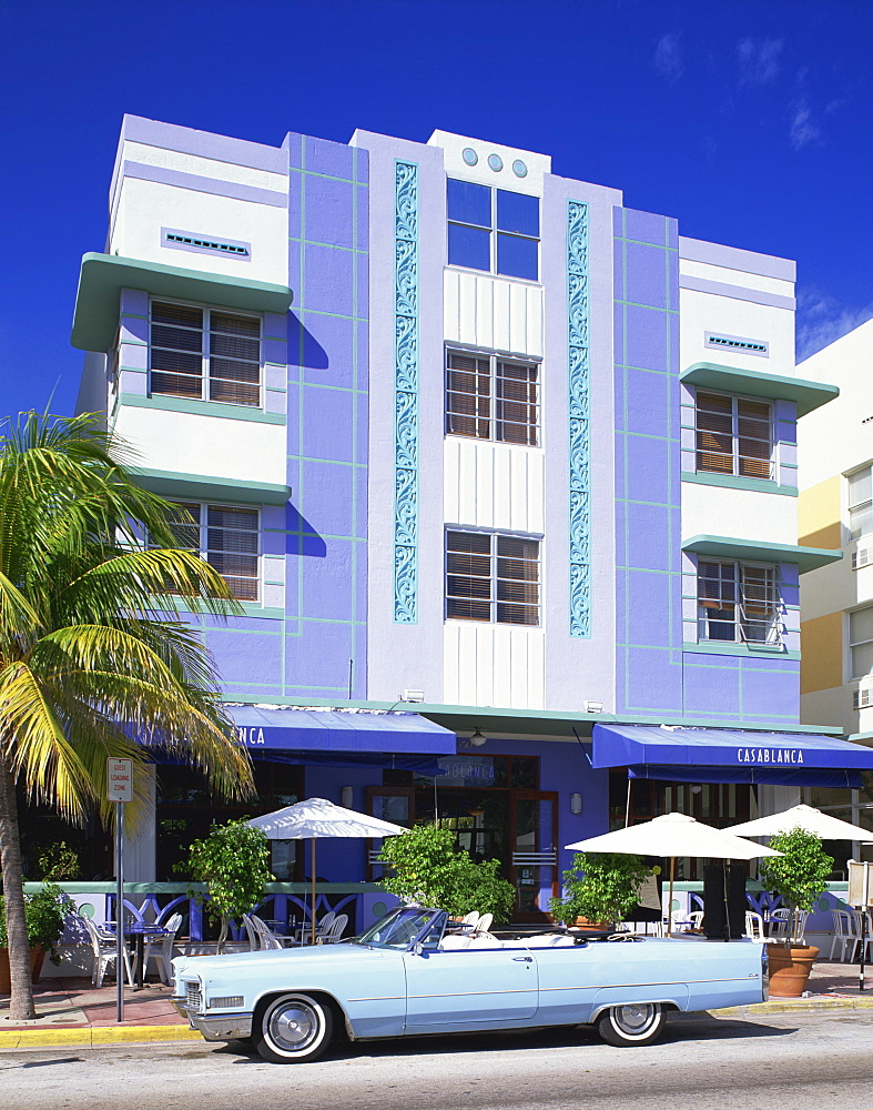
<path id="1" fill-rule="evenodd" d="M 284 424 L 122 405 L 115 428 L 145 470 L 207 474 L 240 485 L 286 481 Z"/>

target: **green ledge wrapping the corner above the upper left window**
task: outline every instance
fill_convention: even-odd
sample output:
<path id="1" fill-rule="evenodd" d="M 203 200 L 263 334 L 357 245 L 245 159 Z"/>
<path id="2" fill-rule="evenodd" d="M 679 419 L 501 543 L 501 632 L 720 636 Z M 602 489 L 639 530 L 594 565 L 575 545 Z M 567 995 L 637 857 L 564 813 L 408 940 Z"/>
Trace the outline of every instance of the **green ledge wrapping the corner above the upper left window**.
<path id="1" fill-rule="evenodd" d="M 71 342 L 74 347 L 109 351 L 119 326 L 119 297 L 123 289 L 140 289 L 182 301 L 202 301 L 222 309 L 280 315 L 288 311 L 294 297 L 287 285 L 182 270 L 158 262 L 122 259 L 116 254 L 85 254 L 73 313 Z"/>

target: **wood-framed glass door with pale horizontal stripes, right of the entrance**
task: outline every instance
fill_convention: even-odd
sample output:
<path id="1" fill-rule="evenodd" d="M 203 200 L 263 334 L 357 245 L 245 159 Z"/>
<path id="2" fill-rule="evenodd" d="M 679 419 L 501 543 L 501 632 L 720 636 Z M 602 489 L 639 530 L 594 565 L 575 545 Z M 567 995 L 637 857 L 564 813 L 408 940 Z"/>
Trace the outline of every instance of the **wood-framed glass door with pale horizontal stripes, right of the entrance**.
<path id="1" fill-rule="evenodd" d="M 510 821 L 509 879 L 516 888 L 515 920 L 545 921 L 549 898 L 558 894 L 557 793 L 514 790 Z"/>

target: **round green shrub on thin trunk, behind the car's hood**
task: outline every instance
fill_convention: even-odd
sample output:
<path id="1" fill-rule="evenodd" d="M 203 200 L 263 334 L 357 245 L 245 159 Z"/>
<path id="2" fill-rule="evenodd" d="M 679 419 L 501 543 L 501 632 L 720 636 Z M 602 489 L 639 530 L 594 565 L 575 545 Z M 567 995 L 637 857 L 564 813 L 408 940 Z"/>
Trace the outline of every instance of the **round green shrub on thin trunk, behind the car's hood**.
<path id="1" fill-rule="evenodd" d="M 205 840 L 191 845 L 187 862 L 175 865 L 175 870 L 187 871 L 195 882 L 206 885 L 207 898 L 191 892 L 221 922 L 217 952 L 224 948 L 231 919 L 250 914 L 264 897 L 266 884 L 273 881 L 268 862 L 270 841 L 243 818 L 213 825 Z"/>

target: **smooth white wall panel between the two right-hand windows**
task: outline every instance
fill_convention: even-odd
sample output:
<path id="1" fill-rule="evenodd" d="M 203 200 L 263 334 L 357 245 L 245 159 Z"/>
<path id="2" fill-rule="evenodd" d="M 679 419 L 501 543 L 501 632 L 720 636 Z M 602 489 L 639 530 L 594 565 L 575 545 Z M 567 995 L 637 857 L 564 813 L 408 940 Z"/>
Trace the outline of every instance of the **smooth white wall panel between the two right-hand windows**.
<path id="1" fill-rule="evenodd" d="M 682 538 L 700 535 L 796 544 L 796 497 L 683 482 Z"/>

